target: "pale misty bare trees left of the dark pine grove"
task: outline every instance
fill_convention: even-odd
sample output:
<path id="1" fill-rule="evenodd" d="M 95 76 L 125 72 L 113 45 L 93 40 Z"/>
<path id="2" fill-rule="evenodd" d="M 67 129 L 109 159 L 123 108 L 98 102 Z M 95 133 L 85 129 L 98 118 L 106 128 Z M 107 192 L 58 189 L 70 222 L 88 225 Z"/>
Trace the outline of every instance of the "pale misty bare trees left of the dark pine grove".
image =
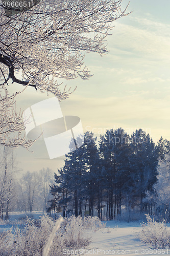
<path id="1" fill-rule="evenodd" d="M 21 174 L 18 170 L 14 151 L 0 147 L 0 218 L 7 220 L 10 211 L 32 212 L 50 206 L 50 185 L 54 172 L 42 168 L 38 172 Z"/>

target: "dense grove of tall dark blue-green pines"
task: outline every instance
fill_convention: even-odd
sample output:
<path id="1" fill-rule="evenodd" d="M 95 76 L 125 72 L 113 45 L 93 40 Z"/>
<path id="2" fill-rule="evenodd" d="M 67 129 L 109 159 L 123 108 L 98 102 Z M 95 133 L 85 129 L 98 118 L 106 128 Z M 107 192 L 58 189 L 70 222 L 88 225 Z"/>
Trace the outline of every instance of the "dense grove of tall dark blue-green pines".
<path id="1" fill-rule="evenodd" d="M 153 214 L 155 202 L 146 199 L 154 193 L 158 161 L 169 150 L 169 141 L 161 137 L 155 145 L 142 129 L 131 136 L 122 128 L 107 130 L 99 140 L 85 132 L 84 144 L 65 155 L 64 166 L 55 174 L 48 211 L 109 220 L 123 210 Z"/>

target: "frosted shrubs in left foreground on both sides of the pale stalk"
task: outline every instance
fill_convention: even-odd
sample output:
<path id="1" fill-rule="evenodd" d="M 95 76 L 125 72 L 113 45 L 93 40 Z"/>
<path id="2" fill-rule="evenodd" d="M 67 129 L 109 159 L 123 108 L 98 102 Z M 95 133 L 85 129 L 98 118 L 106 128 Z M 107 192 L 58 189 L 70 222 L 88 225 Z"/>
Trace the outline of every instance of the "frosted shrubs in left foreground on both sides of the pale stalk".
<path id="1" fill-rule="evenodd" d="M 27 219 L 26 225 L 22 230 L 16 227 L 15 232 L 12 228 L 0 233 L 0 256 L 41 256 L 47 244 L 48 238 L 55 226 L 55 222 L 48 216 L 42 216 L 39 220 Z M 71 216 L 64 219 L 61 227 L 57 230 L 53 244 L 50 248 L 50 255 L 62 255 L 63 249 L 86 248 L 90 243 L 86 229 L 93 231 L 104 227 L 99 218 Z"/>

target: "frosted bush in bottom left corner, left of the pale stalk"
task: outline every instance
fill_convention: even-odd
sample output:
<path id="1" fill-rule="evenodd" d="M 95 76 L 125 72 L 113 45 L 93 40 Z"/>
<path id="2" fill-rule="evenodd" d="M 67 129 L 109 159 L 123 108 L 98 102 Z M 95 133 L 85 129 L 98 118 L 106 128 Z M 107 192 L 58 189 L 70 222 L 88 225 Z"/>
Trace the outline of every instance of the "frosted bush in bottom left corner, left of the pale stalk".
<path id="1" fill-rule="evenodd" d="M 2 232 L 0 255 L 42 255 L 43 247 L 55 223 L 47 216 L 43 216 L 40 222 L 40 227 L 37 227 L 34 220 L 28 218 L 23 230 L 16 228 L 14 233 L 12 229 Z"/>

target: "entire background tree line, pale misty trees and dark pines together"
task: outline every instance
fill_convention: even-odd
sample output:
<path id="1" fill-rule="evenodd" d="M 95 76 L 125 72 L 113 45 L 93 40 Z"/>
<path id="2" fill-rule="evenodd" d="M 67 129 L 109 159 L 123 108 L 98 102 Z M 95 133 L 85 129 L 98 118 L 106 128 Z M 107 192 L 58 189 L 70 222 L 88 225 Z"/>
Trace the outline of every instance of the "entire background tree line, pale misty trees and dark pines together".
<path id="1" fill-rule="evenodd" d="M 155 145 L 141 129 L 131 136 L 111 129 L 100 138 L 86 132 L 84 144 L 65 156 L 53 177 L 49 168 L 20 175 L 13 151 L 1 147 L 0 218 L 8 219 L 10 211 L 46 210 L 64 217 L 130 220 L 141 212 L 170 219 L 169 152 L 168 140 Z"/>

